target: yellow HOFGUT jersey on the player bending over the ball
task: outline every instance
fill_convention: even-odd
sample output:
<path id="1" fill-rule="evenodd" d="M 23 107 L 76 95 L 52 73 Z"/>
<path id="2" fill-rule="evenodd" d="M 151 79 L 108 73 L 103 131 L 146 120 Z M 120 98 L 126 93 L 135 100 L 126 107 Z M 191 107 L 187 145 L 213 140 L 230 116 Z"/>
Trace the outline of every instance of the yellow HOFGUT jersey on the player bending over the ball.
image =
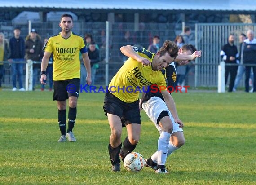
<path id="1" fill-rule="evenodd" d="M 141 57 L 148 58 L 152 62 L 155 54 L 150 53 L 144 48 L 133 47 Z M 165 72 L 165 71 L 164 71 Z M 165 73 L 154 71 L 150 66 L 143 66 L 131 57 L 119 69 L 111 80 L 108 90 L 120 100 L 131 103 L 139 99 L 139 93 L 143 86 L 157 84 L 166 87 Z"/>

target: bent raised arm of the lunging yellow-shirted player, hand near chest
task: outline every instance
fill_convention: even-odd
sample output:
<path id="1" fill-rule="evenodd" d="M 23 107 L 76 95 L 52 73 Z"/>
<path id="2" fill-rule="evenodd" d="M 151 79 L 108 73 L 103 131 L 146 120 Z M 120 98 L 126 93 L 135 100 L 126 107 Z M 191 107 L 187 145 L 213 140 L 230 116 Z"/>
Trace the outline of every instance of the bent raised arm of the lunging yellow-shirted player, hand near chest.
<path id="1" fill-rule="evenodd" d="M 148 66 L 150 65 L 150 61 L 147 58 L 143 58 L 141 57 L 135 50 L 133 46 L 130 45 L 126 45 L 126 46 L 122 46 L 120 48 L 121 52 L 127 56 L 127 57 L 131 57 L 134 60 L 137 60 L 138 62 L 141 62 L 143 65 Z"/>

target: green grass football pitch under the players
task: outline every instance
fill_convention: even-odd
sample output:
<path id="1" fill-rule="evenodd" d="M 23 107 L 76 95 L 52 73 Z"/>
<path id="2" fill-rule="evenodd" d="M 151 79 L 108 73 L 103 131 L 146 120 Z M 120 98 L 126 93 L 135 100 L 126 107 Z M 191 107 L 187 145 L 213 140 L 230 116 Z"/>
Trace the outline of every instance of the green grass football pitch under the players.
<path id="1" fill-rule="evenodd" d="M 58 143 L 51 92 L 0 92 L 0 184 L 255 185 L 256 94 L 174 93 L 185 145 L 167 159 L 168 174 L 144 167 L 110 172 L 104 93 L 80 93 L 75 143 Z M 134 151 L 148 158 L 159 134 L 141 114 Z M 124 139 L 127 136 L 123 129 Z"/>

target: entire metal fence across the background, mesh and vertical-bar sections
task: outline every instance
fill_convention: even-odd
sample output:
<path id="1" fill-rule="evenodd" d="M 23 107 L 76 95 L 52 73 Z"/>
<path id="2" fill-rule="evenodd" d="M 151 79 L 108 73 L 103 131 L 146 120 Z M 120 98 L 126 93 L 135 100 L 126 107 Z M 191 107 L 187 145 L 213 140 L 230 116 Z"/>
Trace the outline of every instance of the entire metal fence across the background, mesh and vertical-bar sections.
<path id="1" fill-rule="evenodd" d="M 28 23 L 13 25 L 12 22 L 0 22 L 0 32 L 3 32 L 5 37 L 9 39 L 13 36 L 14 26 L 21 27 L 23 38 L 28 35 L 31 28 L 38 32 L 42 40 L 60 31 L 59 22 L 32 22 L 31 25 Z M 185 79 L 185 84 L 191 87 L 217 87 L 217 66 L 221 61 L 219 53 L 221 47 L 227 43 L 229 34 L 234 33 L 236 35 L 235 44 L 238 46 L 238 36 L 241 33 L 246 33 L 248 29 L 256 31 L 256 24 L 198 23 L 189 26 L 192 28 L 191 44 L 195 44 L 196 48 L 203 52 L 202 58 L 197 59 L 195 65 L 190 66 L 190 72 Z M 108 71 L 106 71 L 106 31 L 109 33 Z M 154 35 L 159 35 L 160 43 L 163 43 L 167 39 L 174 40 L 181 31 L 181 23 L 139 23 L 139 25 L 136 25 L 134 23 L 116 22 L 109 23 L 109 29 L 106 29 L 105 22 L 74 22 L 73 28 L 73 32 L 82 36 L 85 33 L 92 34 L 93 40 L 100 48 L 101 62 L 95 79 L 98 85 L 105 85 L 106 82 L 109 82 L 123 65 L 125 57 L 119 50 L 122 45 L 132 44 L 147 48 L 151 44 Z M 126 32 L 129 32 L 129 40 L 124 40 Z M 108 74 L 106 75 L 106 73 Z M 23 81 L 24 79 L 25 77 L 23 77 Z M 8 64 L 5 64 L 3 86 L 10 87 L 11 84 L 10 68 Z M 39 77 L 37 85 L 40 85 Z M 243 82 L 240 85 L 243 85 Z"/>

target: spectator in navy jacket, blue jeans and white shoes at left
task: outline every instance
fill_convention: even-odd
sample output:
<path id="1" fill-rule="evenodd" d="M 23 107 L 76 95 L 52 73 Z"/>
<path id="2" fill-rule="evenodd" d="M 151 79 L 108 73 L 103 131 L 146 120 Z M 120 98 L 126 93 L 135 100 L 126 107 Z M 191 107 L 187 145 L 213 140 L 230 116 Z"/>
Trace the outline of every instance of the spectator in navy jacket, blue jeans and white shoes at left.
<path id="1" fill-rule="evenodd" d="M 17 90 L 16 81 L 18 78 L 19 90 L 25 91 L 22 85 L 22 75 L 25 57 L 25 41 L 20 36 L 21 28 L 15 27 L 13 30 L 14 36 L 9 40 L 11 55 L 9 62 L 11 63 L 11 72 L 13 80 L 13 91 Z"/>

